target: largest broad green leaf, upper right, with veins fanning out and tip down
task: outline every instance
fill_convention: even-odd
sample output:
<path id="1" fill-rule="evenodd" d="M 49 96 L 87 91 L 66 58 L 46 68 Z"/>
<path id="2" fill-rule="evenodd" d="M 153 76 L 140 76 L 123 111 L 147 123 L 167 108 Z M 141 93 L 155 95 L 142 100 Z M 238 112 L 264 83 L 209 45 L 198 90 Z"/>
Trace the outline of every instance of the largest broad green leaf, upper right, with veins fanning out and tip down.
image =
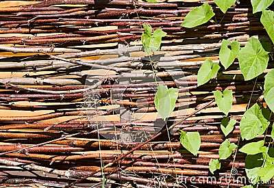
<path id="1" fill-rule="evenodd" d="M 240 71 L 245 80 L 250 80 L 262 74 L 269 62 L 269 53 L 264 50 L 257 38 L 251 37 L 245 48 L 240 50 Z"/>

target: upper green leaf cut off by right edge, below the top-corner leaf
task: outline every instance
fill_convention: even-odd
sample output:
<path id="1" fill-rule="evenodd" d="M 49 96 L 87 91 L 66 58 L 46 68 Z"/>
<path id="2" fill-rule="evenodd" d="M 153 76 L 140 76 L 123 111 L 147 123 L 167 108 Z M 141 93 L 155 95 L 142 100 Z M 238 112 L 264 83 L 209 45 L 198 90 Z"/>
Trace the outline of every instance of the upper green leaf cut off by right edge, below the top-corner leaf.
<path id="1" fill-rule="evenodd" d="M 263 10 L 260 21 L 274 43 L 274 12 L 272 10 Z"/>

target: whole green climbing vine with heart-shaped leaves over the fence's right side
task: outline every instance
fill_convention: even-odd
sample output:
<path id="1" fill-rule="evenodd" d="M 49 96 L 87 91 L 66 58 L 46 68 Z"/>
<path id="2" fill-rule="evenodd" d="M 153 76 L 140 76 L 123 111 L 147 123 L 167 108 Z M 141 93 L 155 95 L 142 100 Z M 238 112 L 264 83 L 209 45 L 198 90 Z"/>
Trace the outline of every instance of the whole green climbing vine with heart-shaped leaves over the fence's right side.
<path id="1" fill-rule="evenodd" d="M 147 2 L 156 2 L 155 0 L 147 0 Z M 227 10 L 234 5 L 236 0 L 214 0 L 214 3 L 225 14 Z M 266 32 L 269 34 L 272 42 L 274 42 L 274 12 L 266 10 L 273 0 L 251 0 L 253 14 L 262 12 L 260 21 Z M 207 23 L 214 16 L 214 11 L 208 3 L 203 3 L 201 6 L 188 12 L 182 27 L 192 28 Z M 152 28 L 149 25 L 143 25 L 145 32 L 142 33 L 142 44 L 145 47 L 147 55 L 157 51 L 160 48 L 162 37 L 166 33 L 162 29 L 155 29 L 152 33 Z M 240 48 L 240 42 L 223 40 L 219 51 L 219 60 L 221 65 L 229 68 L 236 57 L 238 57 L 240 71 L 245 81 L 254 79 L 262 75 L 266 71 L 271 52 L 266 51 L 258 38 L 251 37 L 247 44 Z M 220 70 L 219 63 L 213 63 L 211 59 L 206 59 L 199 68 L 197 75 L 198 86 L 208 83 L 214 79 Z M 221 72 L 219 72 L 221 74 Z M 240 120 L 240 136 L 242 140 L 251 140 L 260 137 L 271 125 L 271 113 L 274 112 L 274 70 L 266 74 L 264 81 L 264 100 L 267 108 L 258 103 L 252 105 L 245 111 Z M 233 96 L 232 90 L 213 91 L 216 105 L 225 114 L 221 121 L 221 130 L 225 136 L 229 135 L 234 129 L 236 120 L 229 119 L 229 111 L 232 107 Z M 177 100 L 177 90 L 174 88 L 168 89 L 164 85 L 158 86 L 158 91 L 155 96 L 155 107 L 162 116 L 166 119 L 170 116 L 175 107 Z M 163 105 L 164 104 L 164 105 Z M 166 108 L 169 106 L 169 108 Z M 179 130 L 180 131 L 180 130 Z M 186 150 L 193 155 L 197 155 L 201 139 L 199 132 L 181 132 L 181 143 Z M 272 126 L 271 137 L 274 139 L 274 129 Z M 219 148 L 219 159 L 211 159 L 209 169 L 212 174 L 221 169 L 221 160 L 227 159 L 235 150 L 245 153 L 245 171 L 247 177 L 253 185 L 247 185 L 245 188 L 256 186 L 259 180 L 270 180 L 274 176 L 274 148 L 273 146 L 265 146 L 265 137 L 258 142 L 249 142 L 238 149 L 238 146 L 229 142 L 228 139 L 221 144 Z"/>

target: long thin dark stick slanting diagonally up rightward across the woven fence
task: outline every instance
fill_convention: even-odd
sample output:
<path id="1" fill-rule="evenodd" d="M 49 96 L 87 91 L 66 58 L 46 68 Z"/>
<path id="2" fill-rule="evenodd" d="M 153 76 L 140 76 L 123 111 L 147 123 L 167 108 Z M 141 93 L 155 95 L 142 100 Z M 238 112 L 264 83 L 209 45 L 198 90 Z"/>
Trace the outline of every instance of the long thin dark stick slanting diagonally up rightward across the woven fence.
<path id="1" fill-rule="evenodd" d="M 164 129 L 164 131 L 161 131 L 160 133 L 157 133 L 156 135 L 154 135 L 153 137 L 151 137 L 150 139 L 147 139 L 147 141 L 142 142 L 142 144 L 139 144 L 138 146 L 136 146 L 135 148 L 133 148 L 132 150 L 129 150 L 128 152 L 126 152 L 125 154 L 121 155 L 120 157 L 118 157 L 117 159 L 114 159 L 112 161 L 112 163 L 108 163 L 108 165 L 104 165 L 103 167 L 100 167 L 99 170 L 96 170 L 95 172 L 92 172 L 91 174 L 88 174 L 86 176 L 84 176 L 83 178 L 80 178 L 79 180 L 76 180 L 75 182 L 67 185 L 66 187 L 71 187 L 73 185 L 75 185 L 76 183 L 80 183 L 82 182 L 82 180 L 85 180 L 86 178 L 96 174 L 97 172 L 101 172 L 101 170 L 105 169 L 106 167 L 111 167 L 112 165 L 114 165 L 115 163 L 117 163 L 118 161 L 120 161 L 121 159 L 125 158 L 127 155 L 131 154 L 132 152 L 134 152 L 135 150 L 138 150 L 139 148 L 141 148 L 142 146 L 144 146 L 145 144 L 151 142 L 153 139 L 157 138 L 158 136 L 162 135 L 163 133 L 165 133 L 166 131 L 169 131 L 171 129 L 174 128 L 174 126 L 176 126 L 177 124 L 180 124 L 182 122 L 184 122 L 184 120 L 190 118 L 191 116 L 193 116 L 195 113 L 198 113 L 199 111 L 201 111 L 202 109 L 208 107 L 208 105 L 210 105 L 211 103 L 213 103 L 214 100 L 211 100 L 209 103 L 206 103 L 206 105 L 204 105 L 203 107 L 200 107 L 199 109 L 197 109 L 196 111 L 193 111 L 192 113 L 190 113 L 188 116 L 186 116 L 185 118 L 183 118 L 182 120 L 179 120 L 178 122 L 176 122 L 175 124 L 173 124 L 172 126 L 170 126 L 168 129 Z M 114 172 L 112 172 L 114 173 Z"/>

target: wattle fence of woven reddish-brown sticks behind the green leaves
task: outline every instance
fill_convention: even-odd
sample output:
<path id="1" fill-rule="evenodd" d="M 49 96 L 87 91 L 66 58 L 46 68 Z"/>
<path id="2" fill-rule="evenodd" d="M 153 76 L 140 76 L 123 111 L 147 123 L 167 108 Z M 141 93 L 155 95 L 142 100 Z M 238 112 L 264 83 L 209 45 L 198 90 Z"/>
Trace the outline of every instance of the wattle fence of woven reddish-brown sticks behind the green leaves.
<path id="1" fill-rule="evenodd" d="M 206 58 L 219 62 L 223 39 L 241 46 L 251 36 L 271 41 L 250 1 L 236 1 L 226 14 L 213 1 L 8 2 L 0 8 L 1 186 L 248 184 L 240 152 L 222 160 L 215 174 L 208 165 L 219 158 L 225 139 L 246 143 L 239 140 L 239 122 L 247 105 L 264 102 L 264 77 L 244 81 L 238 59 L 199 87 L 197 72 Z M 180 26 L 190 10 L 206 2 L 216 14 L 213 20 L 193 29 Z M 140 41 L 143 24 L 167 33 L 151 57 Z M 158 83 L 179 90 L 166 124 L 154 106 Z M 212 102 L 212 91 L 225 88 L 233 91 L 229 117 L 237 121 L 227 137 L 220 126 L 224 115 Z M 172 131 L 163 131 L 176 122 Z M 180 144 L 177 129 L 199 131 L 197 156 Z M 128 150 L 133 152 L 122 155 Z"/>

